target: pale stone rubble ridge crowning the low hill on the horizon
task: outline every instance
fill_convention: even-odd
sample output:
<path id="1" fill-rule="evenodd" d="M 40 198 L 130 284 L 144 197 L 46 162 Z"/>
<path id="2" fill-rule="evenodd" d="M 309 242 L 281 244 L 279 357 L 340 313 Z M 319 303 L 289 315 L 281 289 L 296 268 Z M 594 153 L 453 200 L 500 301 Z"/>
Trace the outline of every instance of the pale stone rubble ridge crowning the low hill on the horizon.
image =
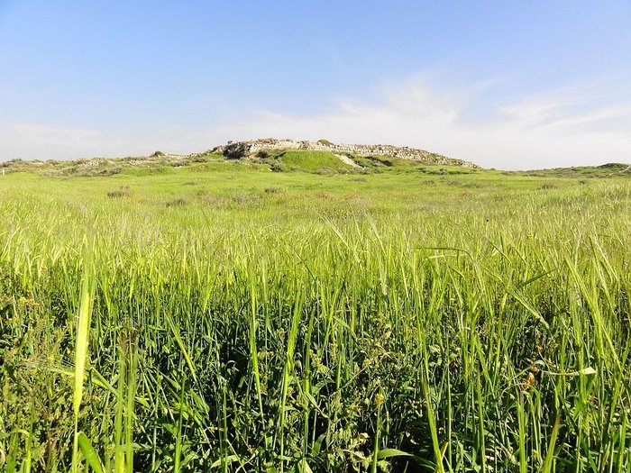
<path id="1" fill-rule="evenodd" d="M 391 156 L 398 159 L 410 159 L 429 164 L 443 164 L 461 166 L 462 168 L 478 168 L 477 165 L 462 159 L 447 158 L 441 154 L 432 153 L 407 146 L 392 146 L 389 144 L 334 144 L 330 141 L 294 141 L 263 138 L 251 141 L 229 142 L 217 146 L 213 152 L 220 152 L 235 157 L 234 150 L 241 156 L 253 156 L 261 150 L 315 150 L 330 151 L 336 154 L 352 154 L 354 156 Z"/>

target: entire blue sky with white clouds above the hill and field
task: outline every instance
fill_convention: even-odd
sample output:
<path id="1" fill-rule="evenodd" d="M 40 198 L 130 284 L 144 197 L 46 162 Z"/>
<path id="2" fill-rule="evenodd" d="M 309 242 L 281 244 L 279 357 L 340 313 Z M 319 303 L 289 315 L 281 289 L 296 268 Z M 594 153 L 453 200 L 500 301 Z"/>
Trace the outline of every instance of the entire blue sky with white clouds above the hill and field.
<path id="1" fill-rule="evenodd" d="M 631 163 L 631 0 L 0 0 L 0 161 L 264 137 Z"/>

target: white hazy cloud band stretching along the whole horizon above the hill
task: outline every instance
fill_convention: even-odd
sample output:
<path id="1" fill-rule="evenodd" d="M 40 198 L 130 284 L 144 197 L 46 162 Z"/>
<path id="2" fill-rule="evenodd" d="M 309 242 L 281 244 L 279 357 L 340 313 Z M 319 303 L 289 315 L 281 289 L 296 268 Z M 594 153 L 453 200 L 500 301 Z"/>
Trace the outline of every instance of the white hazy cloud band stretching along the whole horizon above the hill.
<path id="1" fill-rule="evenodd" d="M 478 114 L 474 107 L 484 104 L 485 96 L 493 97 L 492 86 L 489 81 L 445 90 L 415 77 L 385 90 L 374 103 L 347 100 L 325 114 L 259 112 L 211 130 L 105 132 L 0 123 L 0 159 L 192 152 L 228 140 L 273 136 L 415 146 L 489 168 L 631 161 L 631 103 L 603 100 L 601 84 L 598 90 L 568 86 L 507 99 Z"/>

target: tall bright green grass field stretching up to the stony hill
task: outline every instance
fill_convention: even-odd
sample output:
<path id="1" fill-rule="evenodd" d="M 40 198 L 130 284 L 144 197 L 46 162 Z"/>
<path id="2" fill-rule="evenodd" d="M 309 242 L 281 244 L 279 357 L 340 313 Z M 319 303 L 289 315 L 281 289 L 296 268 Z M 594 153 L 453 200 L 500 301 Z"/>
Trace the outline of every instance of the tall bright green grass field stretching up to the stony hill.
<path id="1" fill-rule="evenodd" d="M 631 470 L 631 179 L 319 158 L 0 176 L 0 470 Z"/>

